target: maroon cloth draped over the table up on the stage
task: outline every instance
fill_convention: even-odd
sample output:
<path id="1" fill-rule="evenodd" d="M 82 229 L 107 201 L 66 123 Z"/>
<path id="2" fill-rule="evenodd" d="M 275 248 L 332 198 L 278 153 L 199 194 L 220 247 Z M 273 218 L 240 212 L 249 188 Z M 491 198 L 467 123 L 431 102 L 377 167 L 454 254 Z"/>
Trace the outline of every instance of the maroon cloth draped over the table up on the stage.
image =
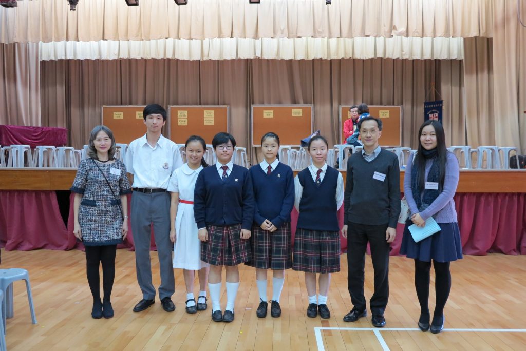
<path id="1" fill-rule="evenodd" d="M 24 127 L 0 125 L 0 145 L 66 146 L 67 129 L 55 127 Z"/>

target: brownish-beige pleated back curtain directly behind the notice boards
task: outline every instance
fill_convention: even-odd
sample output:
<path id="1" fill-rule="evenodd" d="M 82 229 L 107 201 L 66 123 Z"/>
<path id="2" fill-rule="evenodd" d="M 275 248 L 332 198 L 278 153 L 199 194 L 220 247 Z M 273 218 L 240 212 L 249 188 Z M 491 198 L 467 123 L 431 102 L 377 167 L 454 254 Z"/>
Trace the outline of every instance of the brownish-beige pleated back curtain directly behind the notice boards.
<path id="1" fill-rule="evenodd" d="M 52 126 L 67 127 L 73 146 L 79 148 L 100 123 L 102 105 L 229 105 L 230 131 L 239 146 L 247 147 L 251 144 L 251 105 L 313 104 L 315 130 L 320 129 L 335 144 L 339 105 L 366 102 L 402 105 L 403 145 L 414 148 L 431 82 L 436 82 L 438 90 L 446 85 L 444 77 L 449 79 L 447 84 L 457 85 L 448 93 L 457 94 L 448 121 L 455 128 L 462 125 L 461 63 L 381 58 L 42 61 L 42 119 Z M 448 69 L 441 71 L 444 64 Z M 452 143 L 464 143 L 465 133 L 446 130 Z M 255 160 L 254 152 L 251 159 Z"/>

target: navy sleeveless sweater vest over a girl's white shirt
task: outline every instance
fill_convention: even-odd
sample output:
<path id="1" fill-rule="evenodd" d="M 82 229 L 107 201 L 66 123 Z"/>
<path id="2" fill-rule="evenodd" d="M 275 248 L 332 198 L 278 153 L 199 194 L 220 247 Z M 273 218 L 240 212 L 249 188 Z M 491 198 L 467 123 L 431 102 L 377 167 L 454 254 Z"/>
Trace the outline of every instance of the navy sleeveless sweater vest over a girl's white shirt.
<path id="1" fill-rule="evenodd" d="M 336 208 L 336 188 L 338 171 L 327 167 L 323 181 L 317 185 L 308 168 L 298 173 L 303 193 L 299 203 L 298 228 L 337 232 L 338 209 Z"/>

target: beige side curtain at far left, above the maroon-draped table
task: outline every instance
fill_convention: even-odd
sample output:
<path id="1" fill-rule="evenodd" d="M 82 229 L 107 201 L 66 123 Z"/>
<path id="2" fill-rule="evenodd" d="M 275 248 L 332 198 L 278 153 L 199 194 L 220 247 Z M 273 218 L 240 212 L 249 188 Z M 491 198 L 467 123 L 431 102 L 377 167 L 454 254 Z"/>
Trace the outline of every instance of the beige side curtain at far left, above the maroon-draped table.
<path id="1" fill-rule="evenodd" d="M 38 44 L 0 45 L 1 125 L 40 126 Z"/>

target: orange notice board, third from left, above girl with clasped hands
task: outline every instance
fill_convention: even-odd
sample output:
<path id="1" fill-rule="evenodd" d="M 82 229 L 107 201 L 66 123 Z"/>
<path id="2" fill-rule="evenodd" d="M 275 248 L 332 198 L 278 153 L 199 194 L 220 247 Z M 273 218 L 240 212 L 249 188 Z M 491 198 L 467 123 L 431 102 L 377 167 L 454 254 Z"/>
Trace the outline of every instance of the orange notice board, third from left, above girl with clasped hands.
<path id="1" fill-rule="evenodd" d="M 252 147 L 261 146 L 261 137 L 275 132 L 282 145 L 300 146 L 300 140 L 312 134 L 312 105 L 252 105 Z"/>

